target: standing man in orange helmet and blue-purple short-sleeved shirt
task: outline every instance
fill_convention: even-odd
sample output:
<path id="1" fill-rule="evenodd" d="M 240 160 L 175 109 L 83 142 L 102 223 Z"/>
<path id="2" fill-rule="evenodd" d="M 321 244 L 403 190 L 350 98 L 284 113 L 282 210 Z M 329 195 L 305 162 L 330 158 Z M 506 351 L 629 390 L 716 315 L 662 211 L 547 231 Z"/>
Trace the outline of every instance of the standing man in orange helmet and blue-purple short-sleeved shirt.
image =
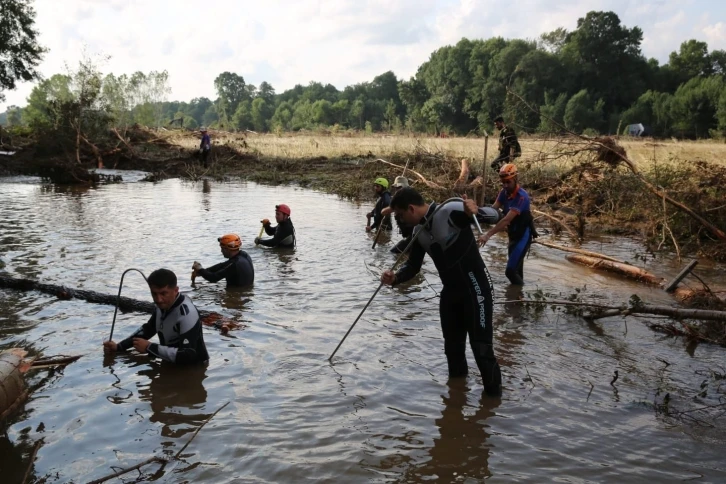
<path id="1" fill-rule="evenodd" d="M 486 244 L 492 235 L 507 229 L 509 246 L 507 252 L 507 269 L 504 274 L 509 282 L 517 286 L 524 285 L 524 258 L 529 252 L 532 239 L 537 237 L 534 221 L 530 210 L 529 194 L 519 186 L 517 167 L 507 163 L 499 170 L 502 190 L 492 208 L 502 208 L 504 217 L 477 241 Z"/>

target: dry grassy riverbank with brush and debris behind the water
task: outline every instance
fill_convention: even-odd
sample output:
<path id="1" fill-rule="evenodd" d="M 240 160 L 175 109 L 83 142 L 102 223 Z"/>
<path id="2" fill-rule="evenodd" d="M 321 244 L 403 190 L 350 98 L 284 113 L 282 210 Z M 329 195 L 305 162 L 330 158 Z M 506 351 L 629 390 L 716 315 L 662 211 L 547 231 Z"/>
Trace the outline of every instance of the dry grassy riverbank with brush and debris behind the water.
<path id="1" fill-rule="evenodd" d="M 78 175 L 79 168 L 93 167 L 101 158 L 107 168 L 142 169 L 153 174 L 151 179 L 242 177 L 365 199 L 372 197 L 373 179 L 385 176 L 392 181 L 408 164 L 412 184 L 434 199 L 463 192 L 474 195 L 468 182 L 476 176 L 481 176 L 485 201 L 491 202 L 500 188 L 496 174 L 484 163 L 484 138 L 212 132 L 214 148 L 205 169 L 196 159 L 198 134 L 143 128 L 122 134 L 110 134 L 93 147 L 81 145 L 78 157 L 67 151 L 63 157 L 40 156 L 33 140 L 21 141 L 21 151 L 10 161 L 0 162 L 4 165 L 0 170 L 62 181 L 65 171 Z M 617 157 L 598 153 L 599 145 L 592 140 L 521 139 L 520 181 L 532 195 L 533 207 L 546 214 L 539 215 L 539 223 L 584 238 L 593 231 L 636 234 L 653 250 L 668 248 L 726 260 L 726 243 L 712 230 L 726 229 L 726 143 L 615 141 L 624 148 L 631 168 Z M 496 152 L 497 139 L 492 136 L 487 160 Z M 454 187 L 462 159 L 471 162 L 471 176 Z M 65 179 L 73 181 L 76 175 Z M 660 194 L 648 190 L 644 182 Z M 692 213 L 664 203 L 663 194 Z M 706 227 L 703 220 L 713 227 Z"/>

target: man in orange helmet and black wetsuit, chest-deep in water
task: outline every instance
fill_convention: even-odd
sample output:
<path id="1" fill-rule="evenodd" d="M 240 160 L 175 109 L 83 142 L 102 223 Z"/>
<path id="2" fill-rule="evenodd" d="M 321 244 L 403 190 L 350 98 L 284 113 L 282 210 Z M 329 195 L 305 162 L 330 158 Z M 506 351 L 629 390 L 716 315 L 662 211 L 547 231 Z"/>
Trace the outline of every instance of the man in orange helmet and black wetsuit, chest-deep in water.
<path id="1" fill-rule="evenodd" d="M 201 276 L 209 282 L 227 280 L 227 287 L 250 286 L 255 282 L 255 269 L 252 267 L 252 259 L 242 247 L 242 239 L 237 234 L 227 234 L 217 239 L 222 249 L 222 255 L 227 261 L 215 264 L 205 269 L 199 262 L 192 265 L 192 282 L 197 276 Z"/>

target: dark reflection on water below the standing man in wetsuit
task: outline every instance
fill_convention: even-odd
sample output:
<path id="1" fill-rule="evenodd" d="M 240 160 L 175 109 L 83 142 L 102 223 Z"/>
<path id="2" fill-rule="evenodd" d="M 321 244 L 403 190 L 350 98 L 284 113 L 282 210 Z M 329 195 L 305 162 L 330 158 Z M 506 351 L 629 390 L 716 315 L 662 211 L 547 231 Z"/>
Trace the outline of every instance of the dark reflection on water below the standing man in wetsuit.
<path id="1" fill-rule="evenodd" d="M 444 408 L 436 419 L 439 437 L 428 450 L 429 459 L 407 469 L 401 482 L 421 482 L 437 479 L 453 482 L 491 477 L 489 470 L 490 445 L 487 443 L 488 419 L 501 404 L 501 398 L 482 393 L 475 405 L 467 403 L 470 395 L 465 381 L 451 380 L 449 394 L 442 396 Z"/>

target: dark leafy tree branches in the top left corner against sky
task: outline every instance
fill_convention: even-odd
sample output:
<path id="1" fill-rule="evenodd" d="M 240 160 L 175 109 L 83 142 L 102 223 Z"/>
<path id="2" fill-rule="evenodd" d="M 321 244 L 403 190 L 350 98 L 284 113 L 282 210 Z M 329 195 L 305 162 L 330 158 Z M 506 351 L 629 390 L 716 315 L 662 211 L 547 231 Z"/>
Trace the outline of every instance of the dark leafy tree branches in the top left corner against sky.
<path id="1" fill-rule="evenodd" d="M 16 81 L 39 77 L 35 69 L 46 49 L 38 44 L 34 23 L 29 0 L 0 0 L 0 101 Z"/>

